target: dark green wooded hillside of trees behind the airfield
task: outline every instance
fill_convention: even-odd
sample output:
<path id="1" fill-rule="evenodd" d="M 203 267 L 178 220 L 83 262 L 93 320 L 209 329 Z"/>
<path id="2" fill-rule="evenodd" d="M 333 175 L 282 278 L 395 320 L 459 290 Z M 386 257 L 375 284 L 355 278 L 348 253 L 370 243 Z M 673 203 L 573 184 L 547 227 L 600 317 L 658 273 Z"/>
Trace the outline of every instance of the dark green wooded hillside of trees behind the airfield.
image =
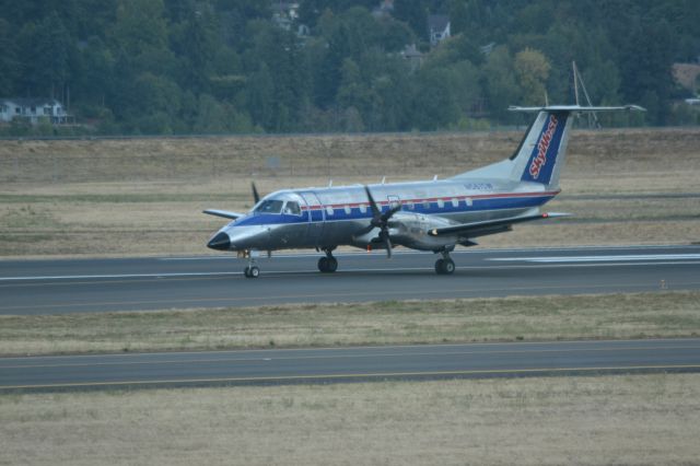
<path id="1" fill-rule="evenodd" d="M 672 75 L 700 56 L 696 0 L 301 0 L 283 23 L 280 3 L 0 0 L 0 97 L 57 97 L 101 133 L 483 128 L 571 103 L 575 60 L 594 104 L 699 123 Z M 435 47 L 429 14 L 451 21 Z"/>

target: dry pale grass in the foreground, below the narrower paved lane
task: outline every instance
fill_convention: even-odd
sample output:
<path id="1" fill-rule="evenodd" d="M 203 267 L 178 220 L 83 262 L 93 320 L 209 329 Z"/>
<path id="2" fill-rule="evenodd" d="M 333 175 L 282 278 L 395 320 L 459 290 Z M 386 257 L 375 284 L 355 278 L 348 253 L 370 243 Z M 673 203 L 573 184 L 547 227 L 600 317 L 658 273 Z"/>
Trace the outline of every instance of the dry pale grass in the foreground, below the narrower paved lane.
<path id="1" fill-rule="evenodd" d="M 0 395 L 0 464 L 691 465 L 700 375 Z"/>

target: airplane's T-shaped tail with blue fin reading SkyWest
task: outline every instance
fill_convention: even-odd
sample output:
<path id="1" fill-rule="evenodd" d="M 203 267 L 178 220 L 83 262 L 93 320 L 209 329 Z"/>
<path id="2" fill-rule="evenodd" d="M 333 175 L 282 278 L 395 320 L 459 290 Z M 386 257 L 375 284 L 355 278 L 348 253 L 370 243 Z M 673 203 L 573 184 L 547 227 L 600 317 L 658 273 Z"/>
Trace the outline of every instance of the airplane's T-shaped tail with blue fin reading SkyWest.
<path id="1" fill-rule="evenodd" d="M 559 187 L 559 174 L 564 165 L 571 114 L 582 112 L 643 110 L 642 107 L 510 107 L 512 112 L 537 112 L 515 153 L 504 161 L 455 176 L 455 178 L 492 178 L 539 183 L 548 189 Z"/>

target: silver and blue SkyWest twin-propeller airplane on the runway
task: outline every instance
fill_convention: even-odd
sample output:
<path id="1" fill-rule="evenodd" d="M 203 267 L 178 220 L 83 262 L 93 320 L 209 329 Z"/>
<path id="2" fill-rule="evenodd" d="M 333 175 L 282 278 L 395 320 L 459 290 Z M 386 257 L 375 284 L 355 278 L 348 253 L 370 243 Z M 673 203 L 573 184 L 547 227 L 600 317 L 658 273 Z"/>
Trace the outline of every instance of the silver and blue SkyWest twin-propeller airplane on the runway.
<path id="1" fill-rule="evenodd" d="M 541 212 L 557 196 L 564 165 L 572 114 L 643 110 L 621 107 L 510 107 L 537 113 L 512 156 L 446 179 L 369 186 L 284 189 L 260 199 L 247 213 L 208 209 L 205 213 L 233 220 L 207 244 L 247 259 L 244 275 L 260 273 L 255 258 L 262 252 L 315 248 L 324 252 L 318 270 L 335 272 L 334 249 L 341 245 L 383 248 L 395 245 L 440 254 L 439 275 L 451 275 L 450 253 L 476 245 L 479 236 L 511 231 L 516 223 L 568 215 Z"/>

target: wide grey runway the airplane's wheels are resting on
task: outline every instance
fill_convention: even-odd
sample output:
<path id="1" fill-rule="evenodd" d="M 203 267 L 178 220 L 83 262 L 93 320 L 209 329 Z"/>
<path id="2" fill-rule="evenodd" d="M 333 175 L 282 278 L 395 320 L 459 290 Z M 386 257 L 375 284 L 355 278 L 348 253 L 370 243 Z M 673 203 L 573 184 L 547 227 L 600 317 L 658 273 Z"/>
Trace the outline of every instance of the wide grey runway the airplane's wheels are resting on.
<path id="1" fill-rule="evenodd" d="M 261 258 L 243 277 L 231 255 L 0 261 L 0 314 L 61 314 L 284 303 L 615 293 L 700 289 L 700 246 L 478 249 L 453 253 L 438 276 L 430 253 L 318 254 Z"/>

